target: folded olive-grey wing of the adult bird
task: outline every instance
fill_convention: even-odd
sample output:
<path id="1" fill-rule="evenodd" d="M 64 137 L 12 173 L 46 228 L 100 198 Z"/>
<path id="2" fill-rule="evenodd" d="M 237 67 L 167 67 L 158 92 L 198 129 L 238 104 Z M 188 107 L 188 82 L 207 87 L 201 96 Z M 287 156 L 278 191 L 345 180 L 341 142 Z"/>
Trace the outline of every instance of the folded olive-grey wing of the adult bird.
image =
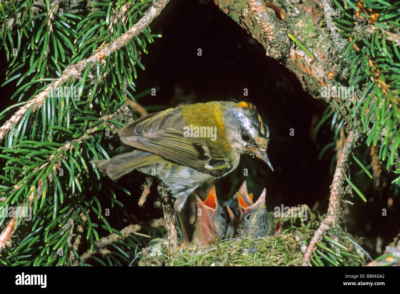
<path id="1" fill-rule="evenodd" d="M 129 146 L 160 155 L 166 160 L 221 176 L 232 166 L 220 150 L 210 150 L 209 138 L 185 138 L 186 120 L 180 108 L 144 116 L 119 131 Z M 212 158 L 210 158 L 210 153 Z"/>

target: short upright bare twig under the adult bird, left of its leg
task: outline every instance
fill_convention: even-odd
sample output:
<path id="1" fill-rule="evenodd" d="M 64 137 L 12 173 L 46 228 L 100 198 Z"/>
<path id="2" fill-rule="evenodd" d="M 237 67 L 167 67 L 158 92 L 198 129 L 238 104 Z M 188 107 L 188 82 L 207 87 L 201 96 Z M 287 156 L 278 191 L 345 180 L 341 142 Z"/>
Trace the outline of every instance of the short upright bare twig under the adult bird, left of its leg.
<path id="1" fill-rule="evenodd" d="M 174 206 L 172 205 L 171 198 L 164 186 L 158 185 L 157 190 L 160 196 L 162 211 L 164 214 L 164 222 L 168 234 L 170 253 L 173 253 L 178 248 L 178 234 L 176 233 L 175 227 Z"/>

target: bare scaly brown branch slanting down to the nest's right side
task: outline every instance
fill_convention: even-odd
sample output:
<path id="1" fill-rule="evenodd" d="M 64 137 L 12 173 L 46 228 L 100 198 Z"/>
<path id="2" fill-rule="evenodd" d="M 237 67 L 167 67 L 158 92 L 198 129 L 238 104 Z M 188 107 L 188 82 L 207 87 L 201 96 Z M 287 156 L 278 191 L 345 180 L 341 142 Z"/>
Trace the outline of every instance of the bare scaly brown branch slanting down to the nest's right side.
<path id="1" fill-rule="evenodd" d="M 336 241 L 338 240 L 337 233 L 340 232 L 340 200 L 344 194 L 344 178 L 346 177 L 346 171 L 348 170 L 348 160 L 359 138 L 359 131 L 350 130 L 348 132 L 346 142 L 344 142 L 342 151 L 340 152 L 340 156 L 336 163 L 336 170 L 333 176 L 332 188 L 330 190 L 328 215 L 321 222 L 318 230 L 315 231 L 314 236 L 310 241 L 310 245 L 308 245 L 306 254 L 304 255 L 302 266 L 308 266 L 308 262 L 311 260 L 312 253 L 314 252 L 317 243 L 322 240 L 328 230 L 333 229 L 332 231 L 334 236 L 332 239 L 336 239 Z"/>

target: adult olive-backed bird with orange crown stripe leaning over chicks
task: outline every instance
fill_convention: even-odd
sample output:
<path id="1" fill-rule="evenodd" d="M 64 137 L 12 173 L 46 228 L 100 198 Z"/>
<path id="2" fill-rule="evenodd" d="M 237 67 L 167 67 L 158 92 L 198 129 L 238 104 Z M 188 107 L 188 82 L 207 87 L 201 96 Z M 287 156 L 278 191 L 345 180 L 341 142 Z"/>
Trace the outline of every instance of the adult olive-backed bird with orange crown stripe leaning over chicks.
<path id="1" fill-rule="evenodd" d="M 136 150 L 92 163 L 112 179 L 132 170 L 156 175 L 176 198 L 178 212 L 200 184 L 232 172 L 241 154 L 255 154 L 273 170 L 268 127 L 247 102 L 178 106 L 139 118 L 118 134 Z"/>

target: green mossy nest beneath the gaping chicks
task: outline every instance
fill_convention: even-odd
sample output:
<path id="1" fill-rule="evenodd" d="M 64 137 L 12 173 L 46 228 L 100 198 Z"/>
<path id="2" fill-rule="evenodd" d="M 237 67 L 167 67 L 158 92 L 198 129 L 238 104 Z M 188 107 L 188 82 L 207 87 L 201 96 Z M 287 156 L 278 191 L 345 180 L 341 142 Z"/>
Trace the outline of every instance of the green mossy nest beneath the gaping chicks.
<path id="1" fill-rule="evenodd" d="M 286 230 L 279 236 L 264 238 L 235 238 L 219 241 L 201 248 L 200 246 L 184 246 L 173 254 L 168 254 L 168 241 L 162 238 L 151 240 L 142 249 L 140 266 L 300 266 L 304 252 L 310 242 L 314 230 L 318 228 L 315 216 L 309 222 L 300 222 L 294 218 L 283 221 Z M 285 226 L 284 226 L 285 227 Z M 342 235 L 339 245 L 324 240 L 318 247 L 320 253 L 314 256 L 312 265 L 350 265 L 360 266 L 366 260 L 360 253 L 360 246 L 349 241 L 349 235 Z M 344 255 L 346 254 L 346 255 Z M 331 260 L 331 261 L 329 261 Z M 363 260 L 363 262 L 361 261 Z"/>

